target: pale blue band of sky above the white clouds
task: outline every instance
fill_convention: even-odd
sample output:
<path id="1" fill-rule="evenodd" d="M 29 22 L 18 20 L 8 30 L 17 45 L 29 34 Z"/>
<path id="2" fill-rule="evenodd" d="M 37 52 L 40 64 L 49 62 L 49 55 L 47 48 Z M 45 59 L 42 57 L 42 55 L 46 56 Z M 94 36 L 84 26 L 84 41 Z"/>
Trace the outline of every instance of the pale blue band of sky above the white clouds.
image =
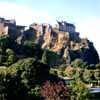
<path id="1" fill-rule="evenodd" d="M 100 18 L 100 0 L 0 0 L 0 2 L 23 5 L 40 12 L 48 12 L 55 20 L 80 23 Z"/>

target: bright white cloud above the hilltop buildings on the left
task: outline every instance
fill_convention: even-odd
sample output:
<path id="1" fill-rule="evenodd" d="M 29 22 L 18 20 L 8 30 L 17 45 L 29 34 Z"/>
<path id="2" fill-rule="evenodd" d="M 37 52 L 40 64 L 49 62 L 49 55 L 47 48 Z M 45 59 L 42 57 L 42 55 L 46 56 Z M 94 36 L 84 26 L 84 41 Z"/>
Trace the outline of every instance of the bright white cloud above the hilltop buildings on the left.
<path id="1" fill-rule="evenodd" d="M 17 5 L 14 3 L 0 3 L 0 17 L 16 19 L 17 24 L 29 25 L 32 22 L 49 23 L 51 16 L 46 11 L 36 11 L 34 9 Z"/>

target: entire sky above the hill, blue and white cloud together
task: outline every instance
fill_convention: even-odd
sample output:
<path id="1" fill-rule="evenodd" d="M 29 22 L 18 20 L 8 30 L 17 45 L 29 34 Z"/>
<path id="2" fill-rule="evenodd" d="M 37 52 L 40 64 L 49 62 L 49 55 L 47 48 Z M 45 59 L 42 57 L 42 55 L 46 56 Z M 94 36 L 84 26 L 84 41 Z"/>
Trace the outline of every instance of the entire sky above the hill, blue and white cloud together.
<path id="1" fill-rule="evenodd" d="M 73 23 L 100 54 L 99 11 L 100 0 L 0 0 L 0 17 L 16 19 L 20 25 L 56 24 L 56 20 Z"/>

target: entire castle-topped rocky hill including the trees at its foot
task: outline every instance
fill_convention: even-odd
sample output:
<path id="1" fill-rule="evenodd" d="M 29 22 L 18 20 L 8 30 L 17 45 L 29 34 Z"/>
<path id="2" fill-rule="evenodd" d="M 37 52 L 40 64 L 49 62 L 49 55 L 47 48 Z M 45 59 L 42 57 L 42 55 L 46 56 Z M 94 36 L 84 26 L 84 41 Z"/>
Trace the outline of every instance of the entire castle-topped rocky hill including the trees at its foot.
<path id="1" fill-rule="evenodd" d="M 98 53 L 73 24 L 0 28 L 1 100 L 86 100 L 100 86 Z"/>

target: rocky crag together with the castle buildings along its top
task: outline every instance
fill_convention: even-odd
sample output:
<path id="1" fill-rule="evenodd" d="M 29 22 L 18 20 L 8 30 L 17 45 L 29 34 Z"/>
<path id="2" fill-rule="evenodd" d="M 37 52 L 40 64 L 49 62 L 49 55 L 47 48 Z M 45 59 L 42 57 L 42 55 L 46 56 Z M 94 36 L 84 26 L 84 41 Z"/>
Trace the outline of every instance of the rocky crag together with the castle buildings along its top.
<path id="1" fill-rule="evenodd" d="M 0 27 L 0 30 L 6 30 L 5 34 L 12 34 L 12 31 L 15 33 L 13 37 L 16 38 L 18 44 L 23 45 L 26 40 L 31 40 L 39 44 L 41 48 L 55 52 L 67 64 L 76 58 L 88 64 L 99 62 L 93 43 L 88 39 L 80 38 L 80 33 L 75 31 L 75 25 L 71 23 L 57 21 L 54 27 L 50 24 L 33 23 L 25 29 L 25 26 L 16 25 L 15 21 L 12 23 L 12 21 L 2 19 L 0 25 L 4 25 Z M 4 31 L 1 33 L 4 34 Z"/>

